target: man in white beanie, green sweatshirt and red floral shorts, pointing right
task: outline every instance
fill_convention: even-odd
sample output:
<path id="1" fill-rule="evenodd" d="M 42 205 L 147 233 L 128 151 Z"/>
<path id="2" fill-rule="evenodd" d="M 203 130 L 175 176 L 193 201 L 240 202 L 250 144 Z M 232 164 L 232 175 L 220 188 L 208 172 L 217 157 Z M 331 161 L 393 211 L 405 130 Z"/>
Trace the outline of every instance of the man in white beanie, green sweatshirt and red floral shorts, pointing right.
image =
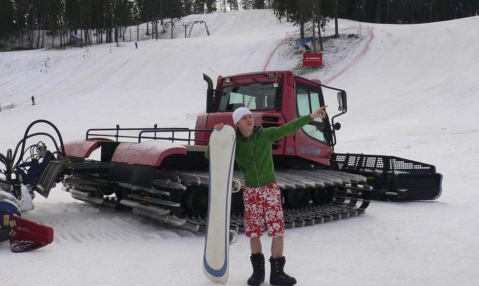
<path id="1" fill-rule="evenodd" d="M 284 221 L 281 193 L 276 182 L 271 146 L 275 141 L 293 134 L 314 118 L 326 117 L 326 106 L 315 112 L 294 119 L 279 127 L 263 128 L 254 126 L 253 115 L 246 107 L 233 112 L 233 122 L 237 127 L 235 161 L 243 173 L 244 228 L 250 238 L 251 264 L 253 274 L 248 285 L 259 286 L 265 279 L 265 258 L 261 246 L 261 236 L 265 226 L 271 244 L 270 284 L 292 286 L 296 279 L 284 273 L 286 259 L 283 256 Z M 220 131 L 224 123 L 214 126 Z M 205 154 L 209 158 L 209 149 Z"/>

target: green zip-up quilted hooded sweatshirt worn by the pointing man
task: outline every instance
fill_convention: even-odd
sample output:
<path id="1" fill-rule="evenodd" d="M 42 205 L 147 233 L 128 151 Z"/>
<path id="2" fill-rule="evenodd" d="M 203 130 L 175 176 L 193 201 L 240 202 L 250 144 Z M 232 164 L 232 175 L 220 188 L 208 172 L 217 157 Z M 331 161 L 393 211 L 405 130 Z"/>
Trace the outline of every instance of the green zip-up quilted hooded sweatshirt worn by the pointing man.
<path id="1" fill-rule="evenodd" d="M 255 126 L 253 134 L 244 137 L 237 130 L 235 161 L 243 173 L 247 187 L 262 187 L 276 181 L 271 146 L 279 139 L 293 134 L 312 120 L 304 115 L 278 127 Z M 209 159 L 209 146 L 204 156 Z"/>

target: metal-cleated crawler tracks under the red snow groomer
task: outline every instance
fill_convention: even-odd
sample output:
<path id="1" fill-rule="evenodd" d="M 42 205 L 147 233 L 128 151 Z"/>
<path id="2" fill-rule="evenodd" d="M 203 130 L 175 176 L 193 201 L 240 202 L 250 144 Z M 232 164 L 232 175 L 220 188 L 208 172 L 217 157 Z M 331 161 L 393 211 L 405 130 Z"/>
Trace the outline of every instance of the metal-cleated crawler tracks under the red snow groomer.
<path id="1" fill-rule="evenodd" d="M 107 145 L 113 143 L 102 142 Z M 194 154 L 198 153 L 195 151 L 200 151 L 196 148 L 188 149 L 191 150 L 189 156 L 202 154 Z M 76 171 L 63 180 L 63 189 L 71 192 L 76 199 L 114 208 L 128 207 L 134 214 L 169 226 L 200 232 L 206 230 L 209 183 L 206 170 L 175 171 L 153 166 L 138 167 L 119 162 L 86 160 L 72 162 L 72 166 Z M 151 186 L 134 184 L 137 179 L 120 176 L 138 173 L 139 169 L 145 168 L 154 169 L 146 171 L 154 173 Z M 96 174 L 91 174 L 92 170 Z M 119 174 L 115 175 L 115 172 Z M 112 178 L 106 179 L 107 174 Z M 277 169 L 276 176 L 284 199 L 284 221 L 287 228 L 364 214 L 370 202 L 371 187 L 361 175 L 322 169 Z M 243 231 L 240 188 L 244 181 L 239 171 L 234 173 L 234 184 L 231 227 Z M 108 197 L 113 193 L 117 196 Z"/>

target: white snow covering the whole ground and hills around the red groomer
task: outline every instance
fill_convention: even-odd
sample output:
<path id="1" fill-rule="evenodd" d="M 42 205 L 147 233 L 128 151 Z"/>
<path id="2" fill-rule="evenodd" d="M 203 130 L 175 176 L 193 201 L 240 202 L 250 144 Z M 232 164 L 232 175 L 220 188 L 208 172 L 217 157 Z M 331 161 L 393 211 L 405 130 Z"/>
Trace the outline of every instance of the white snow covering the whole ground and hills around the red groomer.
<path id="1" fill-rule="evenodd" d="M 214 79 L 214 72 L 260 71 L 277 43 L 297 33 L 297 27 L 277 23 L 272 11 L 197 15 L 188 21 L 204 17 L 211 36 L 199 30 L 188 39 L 140 41 L 138 49 L 120 42 L 119 47 L 0 53 L 0 150 L 14 147 L 39 118 L 54 122 L 65 141 L 83 138 L 88 128 L 115 124 L 194 127 L 188 114 L 205 106 L 202 72 Z M 358 25 L 340 24 L 347 34 Z M 433 164 L 444 176 L 442 196 L 433 202 L 374 202 L 359 217 L 288 229 L 285 269 L 297 285 L 308 286 L 475 286 L 479 17 L 369 26 L 374 27 L 369 49 L 328 83 L 348 92 L 336 150 Z M 347 48 L 343 60 L 320 76 L 338 72 L 364 42 Z M 296 65 L 297 58 L 281 63 L 278 54 L 274 69 Z M 336 106 L 335 96 L 326 96 Z M 27 253 L 0 244 L 2 285 L 213 285 L 201 270 L 202 234 L 98 209 L 60 187 L 34 203 L 24 216 L 52 226 L 54 242 Z M 263 239 L 267 256 L 270 242 Z M 244 236 L 230 248 L 230 259 L 228 284 L 246 285 L 251 266 Z"/>

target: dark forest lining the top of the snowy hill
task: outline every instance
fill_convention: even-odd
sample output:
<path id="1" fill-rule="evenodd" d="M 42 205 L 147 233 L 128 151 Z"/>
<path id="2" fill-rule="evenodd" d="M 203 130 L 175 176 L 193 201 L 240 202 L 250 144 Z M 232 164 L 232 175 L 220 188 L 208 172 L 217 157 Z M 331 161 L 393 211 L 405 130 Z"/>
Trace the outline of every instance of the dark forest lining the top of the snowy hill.
<path id="1" fill-rule="evenodd" d="M 304 36 L 305 23 L 324 27 L 337 18 L 416 24 L 475 16 L 479 0 L 0 0 L 0 48 L 1 39 L 15 39 L 21 49 L 42 48 L 45 33 L 52 46 L 77 43 L 77 38 L 80 44 L 115 42 L 124 33 L 121 28 L 141 23 L 151 24 L 154 37 L 175 25 L 174 19 L 240 9 L 274 9 L 279 19 L 300 26 Z"/>

